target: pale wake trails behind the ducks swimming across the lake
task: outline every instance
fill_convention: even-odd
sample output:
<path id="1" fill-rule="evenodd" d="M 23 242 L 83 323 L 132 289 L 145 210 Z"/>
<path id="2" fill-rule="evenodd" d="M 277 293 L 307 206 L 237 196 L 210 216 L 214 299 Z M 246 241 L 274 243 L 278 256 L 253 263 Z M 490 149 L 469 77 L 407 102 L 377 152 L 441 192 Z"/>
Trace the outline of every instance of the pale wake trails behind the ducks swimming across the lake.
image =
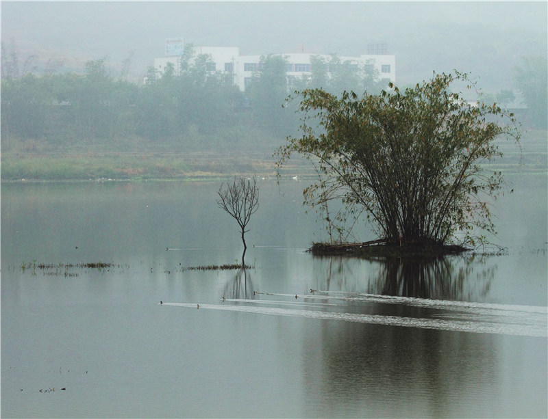
<path id="1" fill-rule="evenodd" d="M 319 291 L 315 292 L 317 293 Z M 438 329 L 453 332 L 532 336 L 537 338 L 548 337 L 548 310 L 546 307 L 432 300 L 411 297 L 390 297 L 385 295 L 366 295 L 358 293 L 337 293 L 341 295 L 340 297 L 332 297 L 330 295 L 290 295 L 276 293 L 256 294 L 278 297 L 297 297 L 297 299 L 303 298 L 308 301 L 225 299 L 225 301 L 221 304 L 198 305 L 197 303 L 163 303 L 163 305 L 183 308 L 199 308 L 205 310 L 268 314 L 271 316 L 292 316 L 308 319 L 349 321 L 354 323 L 369 323 L 399 327 L 417 327 L 421 329 Z M 432 314 L 432 317 L 427 318 L 327 312 L 314 310 L 314 308 L 320 309 L 324 306 L 344 307 L 345 305 L 336 303 L 310 302 L 310 300 L 314 299 L 343 299 L 343 301 L 397 303 L 406 304 L 408 306 L 451 310 L 451 312 Z M 246 305 L 236 305 L 234 303 L 245 303 Z M 253 303 L 253 306 L 249 306 L 250 303 Z M 295 308 L 266 307 L 267 305 L 292 306 Z M 297 309 L 297 307 L 306 307 L 307 309 L 302 310 Z M 458 313 L 454 312 L 456 310 L 458 310 Z"/>

